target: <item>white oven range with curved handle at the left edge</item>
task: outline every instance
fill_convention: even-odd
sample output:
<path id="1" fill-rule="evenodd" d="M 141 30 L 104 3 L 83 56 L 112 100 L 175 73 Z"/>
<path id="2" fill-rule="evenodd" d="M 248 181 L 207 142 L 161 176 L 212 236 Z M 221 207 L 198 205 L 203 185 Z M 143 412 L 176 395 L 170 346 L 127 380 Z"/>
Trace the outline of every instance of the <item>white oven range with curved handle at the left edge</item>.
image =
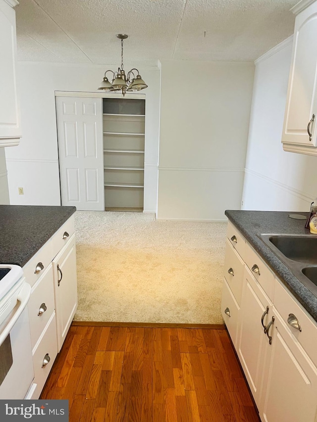
<path id="1" fill-rule="evenodd" d="M 22 268 L 0 264 L 0 399 L 27 398 L 34 378 L 30 295 Z"/>

